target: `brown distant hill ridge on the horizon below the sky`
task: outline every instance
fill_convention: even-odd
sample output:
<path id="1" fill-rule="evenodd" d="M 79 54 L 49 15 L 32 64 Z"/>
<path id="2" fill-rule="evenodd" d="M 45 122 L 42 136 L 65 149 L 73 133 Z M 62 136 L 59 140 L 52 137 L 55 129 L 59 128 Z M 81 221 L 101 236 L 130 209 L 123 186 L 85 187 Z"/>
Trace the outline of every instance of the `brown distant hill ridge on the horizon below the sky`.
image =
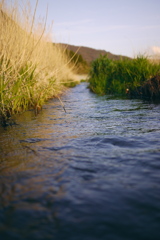
<path id="1" fill-rule="evenodd" d="M 106 54 L 108 55 L 108 58 L 113 59 L 113 60 L 118 60 L 120 58 L 129 59 L 129 57 L 122 56 L 122 55 L 115 55 L 115 54 L 112 54 L 105 50 L 98 50 L 98 49 L 94 49 L 94 48 L 80 47 L 80 46 L 74 46 L 74 45 L 63 44 L 63 43 L 61 43 L 60 45 L 64 46 L 65 48 L 67 48 L 73 52 L 78 51 L 78 54 L 82 55 L 83 59 L 87 63 L 91 63 L 93 60 L 99 58 L 100 55 L 106 55 Z"/>

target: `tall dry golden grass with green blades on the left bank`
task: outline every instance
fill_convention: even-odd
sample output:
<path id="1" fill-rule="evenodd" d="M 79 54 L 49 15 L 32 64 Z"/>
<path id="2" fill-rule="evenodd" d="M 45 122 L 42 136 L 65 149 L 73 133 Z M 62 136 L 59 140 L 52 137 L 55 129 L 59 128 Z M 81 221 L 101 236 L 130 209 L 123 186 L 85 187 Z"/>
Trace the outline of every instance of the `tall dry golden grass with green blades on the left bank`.
<path id="1" fill-rule="evenodd" d="M 27 1 L 19 6 L 17 1 L 7 5 L 7 1 L 0 0 L 2 124 L 12 114 L 28 108 L 38 111 L 48 98 L 63 91 L 64 83 L 74 79 L 73 65 L 64 49 L 51 43 L 46 20 L 35 20 L 37 6 L 38 1 L 32 13 Z"/>

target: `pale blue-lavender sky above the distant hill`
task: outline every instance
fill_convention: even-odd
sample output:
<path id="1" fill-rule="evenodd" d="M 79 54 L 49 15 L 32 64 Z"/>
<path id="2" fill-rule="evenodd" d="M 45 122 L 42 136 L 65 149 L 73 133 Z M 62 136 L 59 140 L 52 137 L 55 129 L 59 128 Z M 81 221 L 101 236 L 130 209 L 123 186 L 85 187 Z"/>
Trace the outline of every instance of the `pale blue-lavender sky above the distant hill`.
<path id="1" fill-rule="evenodd" d="M 160 0 L 39 0 L 37 17 L 44 18 L 47 5 L 53 41 L 129 57 L 160 55 Z"/>

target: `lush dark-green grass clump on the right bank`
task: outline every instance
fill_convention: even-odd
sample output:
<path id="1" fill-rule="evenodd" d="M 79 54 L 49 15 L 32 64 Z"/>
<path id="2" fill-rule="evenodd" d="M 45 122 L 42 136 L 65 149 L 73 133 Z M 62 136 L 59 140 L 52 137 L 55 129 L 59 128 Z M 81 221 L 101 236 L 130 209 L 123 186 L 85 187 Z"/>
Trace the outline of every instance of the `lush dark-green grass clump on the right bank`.
<path id="1" fill-rule="evenodd" d="M 126 96 L 136 92 L 152 76 L 160 74 L 160 63 L 144 56 L 134 59 L 111 60 L 106 56 L 96 59 L 91 66 L 89 87 L 100 95 Z"/>

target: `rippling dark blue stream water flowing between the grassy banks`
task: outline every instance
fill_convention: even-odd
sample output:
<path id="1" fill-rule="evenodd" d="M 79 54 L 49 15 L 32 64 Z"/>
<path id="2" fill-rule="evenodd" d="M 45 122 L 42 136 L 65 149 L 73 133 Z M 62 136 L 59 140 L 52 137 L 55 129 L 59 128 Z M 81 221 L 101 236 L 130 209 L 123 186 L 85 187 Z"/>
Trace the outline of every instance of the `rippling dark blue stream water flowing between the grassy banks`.
<path id="1" fill-rule="evenodd" d="M 0 239 L 159 240 L 160 105 L 62 99 L 0 128 Z"/>

